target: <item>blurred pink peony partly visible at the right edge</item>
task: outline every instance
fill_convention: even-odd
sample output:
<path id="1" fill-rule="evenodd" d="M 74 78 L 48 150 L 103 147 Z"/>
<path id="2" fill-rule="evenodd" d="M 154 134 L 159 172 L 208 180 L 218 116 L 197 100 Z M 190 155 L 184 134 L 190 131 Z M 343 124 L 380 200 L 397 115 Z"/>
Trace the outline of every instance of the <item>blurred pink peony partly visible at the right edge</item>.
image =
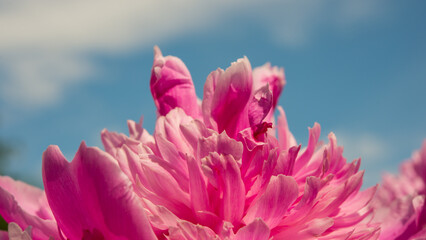
<path id="1" fill-rule="evenodd" d="M 400 174 L 386 174 L 371 207 L 381 223 L 380 239 L 426 239 L 426 140 Z"/>

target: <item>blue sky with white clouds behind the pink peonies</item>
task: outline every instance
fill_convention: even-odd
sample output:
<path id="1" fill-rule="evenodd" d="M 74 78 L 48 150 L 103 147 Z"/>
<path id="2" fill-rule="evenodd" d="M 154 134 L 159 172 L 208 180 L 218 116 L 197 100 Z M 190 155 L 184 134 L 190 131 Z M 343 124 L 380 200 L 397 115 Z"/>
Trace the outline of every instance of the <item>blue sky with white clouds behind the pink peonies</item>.
<path id="1" fill-rule="evenodd" d="M 142 2 L 142 1 L 141 1 Z M 413 1 L 0 1 L 0 137 L 6 173 L 41 185 L 50 144 L 72 159 L 103 128 L 151 133 L 152 47 L 206 76 L 247 56 L 285 68 L 280 98 L 298 142 L 333 131 L 365 185 L 396 172 L 426 137 L 426 3 Z"/>

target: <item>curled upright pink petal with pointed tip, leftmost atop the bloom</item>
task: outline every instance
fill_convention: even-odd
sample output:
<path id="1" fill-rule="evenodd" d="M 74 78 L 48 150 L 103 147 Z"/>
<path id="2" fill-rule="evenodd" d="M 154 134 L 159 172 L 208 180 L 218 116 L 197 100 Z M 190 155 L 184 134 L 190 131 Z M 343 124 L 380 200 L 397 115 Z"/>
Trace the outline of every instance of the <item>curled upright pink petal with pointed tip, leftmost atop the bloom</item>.
<path id="1" fill-rule="evenodd" d="M 189 116 L 200 116 L 194 84 L 185 64 L 177 57 L 163 57 L 157 46 L 154 47 L 150 84 L 160 115 L 164 116 L 170 110 L 180 107 Z"/>

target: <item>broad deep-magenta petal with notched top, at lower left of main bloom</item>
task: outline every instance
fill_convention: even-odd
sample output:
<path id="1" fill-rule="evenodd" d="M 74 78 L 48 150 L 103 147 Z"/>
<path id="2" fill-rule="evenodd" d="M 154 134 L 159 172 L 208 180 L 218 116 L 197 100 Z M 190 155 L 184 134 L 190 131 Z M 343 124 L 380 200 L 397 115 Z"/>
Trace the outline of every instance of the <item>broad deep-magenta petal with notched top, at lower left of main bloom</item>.
<path id="1" fill-rule="evenodd" d="M 109 154 L 81 144 L 68 163 L 57 146 L 43 154 L 43 180 L 59 227 L 70 239 L 155 239 L 131 182 Z"/>

